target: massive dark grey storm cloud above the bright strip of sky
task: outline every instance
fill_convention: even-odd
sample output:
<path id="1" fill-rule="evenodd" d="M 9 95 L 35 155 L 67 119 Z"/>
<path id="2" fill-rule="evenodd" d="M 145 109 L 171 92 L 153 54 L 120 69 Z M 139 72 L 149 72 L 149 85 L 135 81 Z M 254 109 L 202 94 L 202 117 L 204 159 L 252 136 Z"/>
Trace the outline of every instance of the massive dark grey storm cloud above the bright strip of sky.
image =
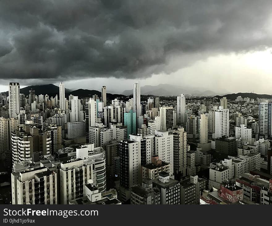
<path id="1" fill-rule="evenodd" d="M 148 77 L 171 70 L 172 55 L 266 48 L 271 6 L 249 0 L 2 1 L 0 78 Z"/>

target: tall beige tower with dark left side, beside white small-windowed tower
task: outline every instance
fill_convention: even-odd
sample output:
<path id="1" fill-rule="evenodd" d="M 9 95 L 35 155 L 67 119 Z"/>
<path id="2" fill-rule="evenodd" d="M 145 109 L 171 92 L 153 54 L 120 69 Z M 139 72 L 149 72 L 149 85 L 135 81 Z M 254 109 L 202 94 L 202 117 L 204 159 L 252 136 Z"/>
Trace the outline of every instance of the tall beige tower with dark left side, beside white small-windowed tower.
<path id="1" fill-rule="evenodd" d="M 187 133 L 184 128 L 173 131 L 173 169 L 175 175 L 186 176 L 187 169 Z"/>

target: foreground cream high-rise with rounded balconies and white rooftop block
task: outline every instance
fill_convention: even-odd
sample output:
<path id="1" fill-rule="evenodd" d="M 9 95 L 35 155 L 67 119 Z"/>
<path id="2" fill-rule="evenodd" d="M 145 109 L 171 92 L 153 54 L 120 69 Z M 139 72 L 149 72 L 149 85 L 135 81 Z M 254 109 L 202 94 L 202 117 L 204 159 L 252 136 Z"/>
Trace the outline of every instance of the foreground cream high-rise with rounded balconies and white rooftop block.
<path id="1" fill-rule="evenodd" d="M 89 180 L 99 189 L 106 190 L 106 159 L 103 148 L 93 144 L 82 145 L 76 149 L 76 158 L 61 161 L 60 203 L 67 204 L 75 198 L 82 198 Z"/>

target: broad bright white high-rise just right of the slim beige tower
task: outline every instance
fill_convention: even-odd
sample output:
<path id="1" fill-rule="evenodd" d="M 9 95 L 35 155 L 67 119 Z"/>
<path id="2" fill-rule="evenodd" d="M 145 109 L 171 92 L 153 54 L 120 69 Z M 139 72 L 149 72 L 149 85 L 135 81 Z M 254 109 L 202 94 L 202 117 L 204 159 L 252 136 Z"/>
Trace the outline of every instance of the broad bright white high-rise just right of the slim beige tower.
<path id="1" fill-rule="evenodd" d="M 229 109 L 219 106 L 219 110 L 215 111 L 215 138 L 223 136 L 229 136 Z"/>

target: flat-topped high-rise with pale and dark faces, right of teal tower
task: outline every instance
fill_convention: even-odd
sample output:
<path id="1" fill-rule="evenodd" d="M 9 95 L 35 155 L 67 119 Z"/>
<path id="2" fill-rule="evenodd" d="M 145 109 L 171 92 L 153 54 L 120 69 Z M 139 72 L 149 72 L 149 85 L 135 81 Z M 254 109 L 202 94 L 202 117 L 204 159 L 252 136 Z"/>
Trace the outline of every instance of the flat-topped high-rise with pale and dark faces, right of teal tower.
<path id="1" fill-rule="evenodd" d="M 173 129 L 173 107 L 162 106 L 159 108 L 160 130 L 167 131 Z"/>

